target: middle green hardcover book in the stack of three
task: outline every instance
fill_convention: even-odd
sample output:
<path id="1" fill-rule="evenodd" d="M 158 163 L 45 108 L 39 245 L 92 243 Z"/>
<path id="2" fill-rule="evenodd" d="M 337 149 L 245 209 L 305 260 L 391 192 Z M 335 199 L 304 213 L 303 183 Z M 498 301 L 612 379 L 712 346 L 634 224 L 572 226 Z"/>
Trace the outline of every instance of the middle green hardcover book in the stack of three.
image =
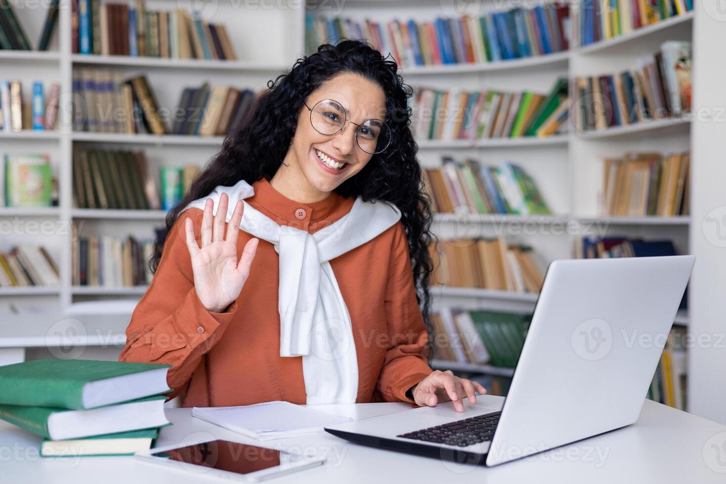
<path id="1" fill-rule="evenodd" d="M 65 440 L 166 425 L 165 400 L 157 395 L 90 410 L 0 405 L 0 419 L 50 440 Z"/>

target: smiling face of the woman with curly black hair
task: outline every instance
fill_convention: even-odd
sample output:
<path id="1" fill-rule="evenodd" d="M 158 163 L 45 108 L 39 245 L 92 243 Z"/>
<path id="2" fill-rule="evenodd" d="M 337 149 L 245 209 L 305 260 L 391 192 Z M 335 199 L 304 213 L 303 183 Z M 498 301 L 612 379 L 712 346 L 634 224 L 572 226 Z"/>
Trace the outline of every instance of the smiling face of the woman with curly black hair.
<path id="1" fill-rule="evenodd" d="M 360 75 L 335 75 L 317 91 L 313 91 L 305 102 L 312 109 L 323 99 L 333 99 L 347 111 L 347 114 L 341 113 L 340 120 L 345 115 L 356 124 L 367 119 L 386 119 L 386 95 L 383 89 Z M 364 152 L 356 143 L 358 126 L 355 124 L 345 123 L 343 129 L 333 135 L 320 134 L 312 126 L 310 114 L 303 104 L 285 163 L 290 168 L 298 168 L 312 189 L 332 192 L 343 181 L 361 171 L 373 155 Z"/>

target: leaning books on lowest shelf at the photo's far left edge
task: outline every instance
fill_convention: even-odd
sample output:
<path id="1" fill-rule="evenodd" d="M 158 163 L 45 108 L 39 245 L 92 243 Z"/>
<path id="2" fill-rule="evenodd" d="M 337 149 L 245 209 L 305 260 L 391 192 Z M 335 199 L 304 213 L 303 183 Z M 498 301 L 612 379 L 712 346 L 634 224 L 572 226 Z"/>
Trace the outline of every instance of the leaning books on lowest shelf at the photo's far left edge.
<path id="1" fill-rule="evenodd" d="M 0 253 L 0 287 L 57 286 L 58 266 L 45 247 L 20 245 Z"/>

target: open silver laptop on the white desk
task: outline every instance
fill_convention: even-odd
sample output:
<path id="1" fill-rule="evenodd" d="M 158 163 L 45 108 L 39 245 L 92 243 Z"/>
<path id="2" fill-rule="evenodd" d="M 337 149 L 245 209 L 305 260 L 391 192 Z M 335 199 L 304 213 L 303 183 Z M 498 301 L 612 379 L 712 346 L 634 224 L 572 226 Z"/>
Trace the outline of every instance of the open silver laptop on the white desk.
<path id="1" fill-rule="evenodd" d="M 447 402 L 325 430 L 351 442 L 492 466 L 632 424 L 694 261 L 554 261 L 502 406 L 465 399 L 463 413 Z"/>

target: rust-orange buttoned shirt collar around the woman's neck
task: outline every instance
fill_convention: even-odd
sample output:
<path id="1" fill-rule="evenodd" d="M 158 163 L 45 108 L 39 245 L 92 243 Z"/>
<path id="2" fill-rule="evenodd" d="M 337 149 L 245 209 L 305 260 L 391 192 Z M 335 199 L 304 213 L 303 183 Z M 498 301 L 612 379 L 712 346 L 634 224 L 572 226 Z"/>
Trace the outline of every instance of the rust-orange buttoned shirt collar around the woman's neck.
<path id="1" fill-rule="evenodd" d="M 295 202 L 278 192 L 265 177 L 252 184 L 255 194 L 246 201 L 279 225 L 294 226 L 309 232 L 335 222 L 351 210 L 352 197 L 330 192 L 315 203 Z"/>

